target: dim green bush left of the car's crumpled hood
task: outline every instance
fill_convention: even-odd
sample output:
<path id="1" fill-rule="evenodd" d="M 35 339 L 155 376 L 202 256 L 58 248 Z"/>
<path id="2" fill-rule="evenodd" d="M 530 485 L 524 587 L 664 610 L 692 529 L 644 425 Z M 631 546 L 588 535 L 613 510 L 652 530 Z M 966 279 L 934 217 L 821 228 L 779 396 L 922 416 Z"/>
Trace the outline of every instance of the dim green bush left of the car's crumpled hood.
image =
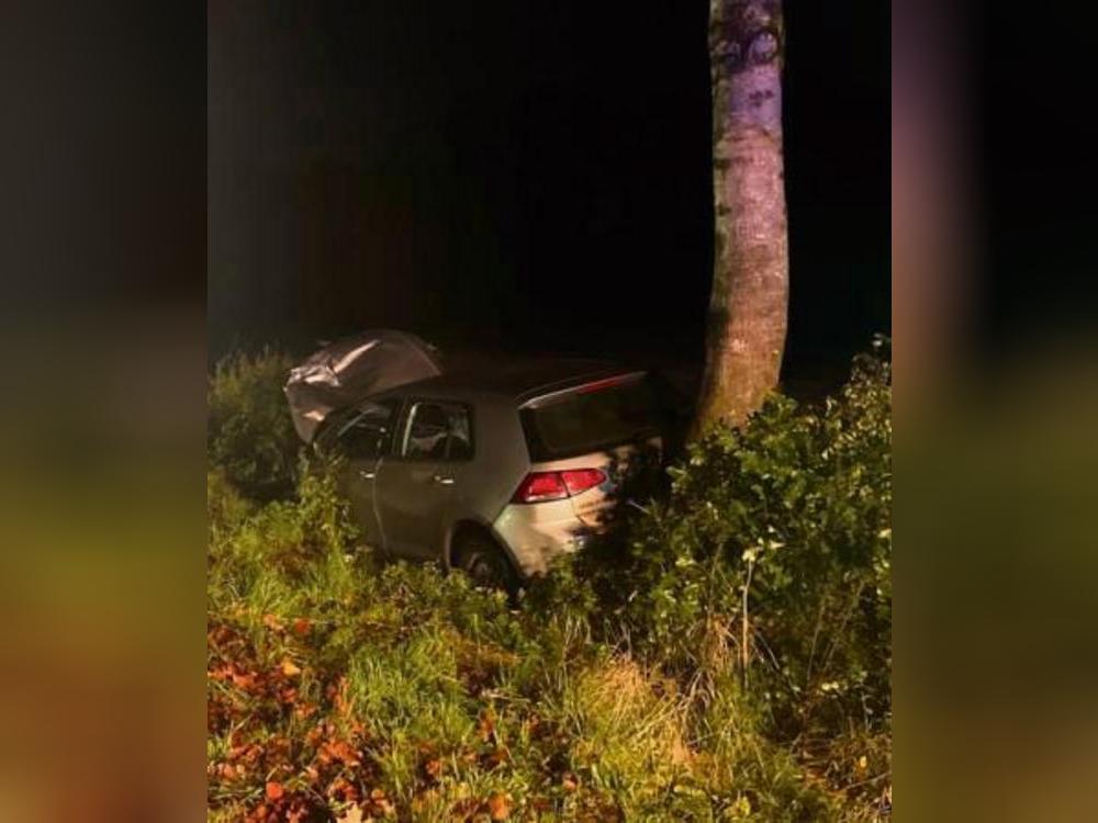
<path id="1" fill-rule="evenodd" d="M 210 462 L 245 496 L 288 497 L 301 446 L 282 394 L 288 354 L 236 352 L 217 363 L 206 394 Z"/>

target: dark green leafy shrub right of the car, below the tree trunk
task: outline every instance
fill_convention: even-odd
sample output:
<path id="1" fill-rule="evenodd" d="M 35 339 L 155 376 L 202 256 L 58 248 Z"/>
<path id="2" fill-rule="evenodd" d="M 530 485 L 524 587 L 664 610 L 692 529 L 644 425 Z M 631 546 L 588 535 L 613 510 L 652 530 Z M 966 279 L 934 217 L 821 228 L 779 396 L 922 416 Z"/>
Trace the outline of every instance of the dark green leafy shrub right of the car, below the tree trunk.
<path id="1" fill-rule="evenodd" d="M 672 470 L 666 500 L 533 599 L 590 604 L 597 635 L 676 676 L 699 710 L 735 702 L 741 723 L 834 785 L 855 782 L 888 768 L 890 507 L 890 368 L 861 357 L 819 408 L 774 395 L 743 427 L 710 430 Z M 851 730 L 875 762 L 837 769 Z"/>

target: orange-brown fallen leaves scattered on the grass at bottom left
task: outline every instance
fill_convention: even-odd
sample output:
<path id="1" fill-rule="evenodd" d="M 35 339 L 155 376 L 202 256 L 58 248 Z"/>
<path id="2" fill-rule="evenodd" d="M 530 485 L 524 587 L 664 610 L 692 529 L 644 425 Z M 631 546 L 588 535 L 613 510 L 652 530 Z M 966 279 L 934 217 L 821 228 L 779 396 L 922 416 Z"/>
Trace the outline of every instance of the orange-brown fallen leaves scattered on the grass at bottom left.
<path id="1" fill-rule="evenodd" d="M 271 615 L 260 623 L 283 643 L 274 647 L 288 650 L 273 665 L 262 663 L 243 629 L 213 623 L 208 632 L 208 731 L 224 744 L 208 764 L 211 808 L 238 808 L 247 823 L 395 819 L 397 804 L 378 786 L 381 775 L 369 753 L 371 739 L 365 724 L 352 717 L 346 678 L 313 669 L 309 649 L 301 645 L 314 635 L 313 623 Z M 494 679 L 502 663 L 492 657 L 471 665 L 467 669 L 470 694 Z M 313 684 L 311 688 L 303 686 L 305 678 Z M 309 700 L 303 691 L 321 697 Z M 290 730 L 303 722 L 307 731 L 291 739 Z M 456 822 L 515 816 L 514 798 L 505 791 L 444 799 L 444 781 L 457 777 L 452 764 L 491 774 L 511 763 L 493 711 L 479 714 L 475 732 L 479 744 L 462 752 L 439 752 L 429 741 L 418 743 L 418 779 L 411 800 L 405 801 L 411 811 L 437 809 L 445 802 Z M 568 780 L 563 787 L 574 790 Z M 530 810 L 541 805 L 546 803 L 534 802 Z"/>

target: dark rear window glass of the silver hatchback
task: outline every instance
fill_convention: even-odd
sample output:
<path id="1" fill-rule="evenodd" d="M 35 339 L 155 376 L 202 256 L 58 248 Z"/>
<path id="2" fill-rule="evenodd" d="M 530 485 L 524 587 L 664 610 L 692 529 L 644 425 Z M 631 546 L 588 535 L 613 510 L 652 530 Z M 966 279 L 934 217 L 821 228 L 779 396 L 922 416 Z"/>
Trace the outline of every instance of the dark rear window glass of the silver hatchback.
<path id="1" fill-rule="evenodd" d="M 585 454 L 659 432 L 654 393 L 645 379 L 565 394 L 524 408 L 522 418 L 535 461 Z"/>

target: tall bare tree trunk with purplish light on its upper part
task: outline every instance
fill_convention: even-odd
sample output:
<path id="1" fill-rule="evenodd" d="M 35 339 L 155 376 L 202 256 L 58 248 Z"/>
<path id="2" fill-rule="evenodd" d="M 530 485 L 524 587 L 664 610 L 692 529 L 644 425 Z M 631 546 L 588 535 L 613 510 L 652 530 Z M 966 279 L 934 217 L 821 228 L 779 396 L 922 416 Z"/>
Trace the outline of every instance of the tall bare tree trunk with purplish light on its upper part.
<path id="1" fill-rule="evenodd" d="M 781 0 L 710 0 L 714 269 L 694 433 L 743 422 L 777 386 L 788 240 Z"/>

